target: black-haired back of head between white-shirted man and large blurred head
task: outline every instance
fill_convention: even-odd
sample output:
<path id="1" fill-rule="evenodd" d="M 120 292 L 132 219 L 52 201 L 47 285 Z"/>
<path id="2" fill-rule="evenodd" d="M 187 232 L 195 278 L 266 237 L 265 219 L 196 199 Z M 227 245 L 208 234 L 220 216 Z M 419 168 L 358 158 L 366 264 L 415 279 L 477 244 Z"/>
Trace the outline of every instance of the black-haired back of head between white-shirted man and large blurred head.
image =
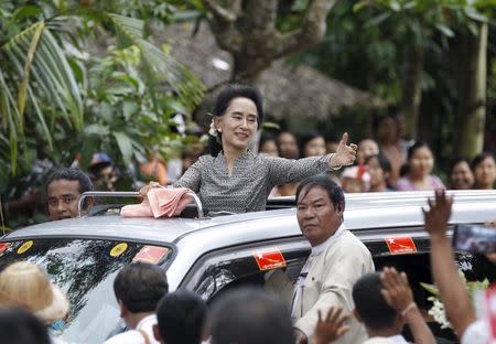
<path id="1" fill-rule="evenodd" d="M 206 310 L 206 302 L 187 290 L 179 290 L 163 297 L 157 308 L 159 332 L 163 342 L 198 344 Z"/>

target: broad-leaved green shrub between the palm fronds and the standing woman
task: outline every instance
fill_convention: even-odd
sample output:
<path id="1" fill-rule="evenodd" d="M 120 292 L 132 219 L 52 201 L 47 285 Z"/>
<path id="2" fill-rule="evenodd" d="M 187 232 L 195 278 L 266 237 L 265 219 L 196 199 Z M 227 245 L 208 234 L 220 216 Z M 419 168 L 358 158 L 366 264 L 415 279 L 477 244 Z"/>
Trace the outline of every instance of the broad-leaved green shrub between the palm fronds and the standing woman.
<path id="1" fill-rule="evenodd" d="M 160 83 L 153 98 L 140 62 L 137 45 L 111 47 L 107 56 L 89 61 L 86 126 L 74 147 L 82 153 L 83 166 L 95 151 L 122 157 L 118 163 L 126 168 L 134 160 L 144 162 L 151 152 L 170 158 L 171 147 L 181 146 L 181 136 L 171 132 L 171 118 L 188 110 L 173 89 Z"/>

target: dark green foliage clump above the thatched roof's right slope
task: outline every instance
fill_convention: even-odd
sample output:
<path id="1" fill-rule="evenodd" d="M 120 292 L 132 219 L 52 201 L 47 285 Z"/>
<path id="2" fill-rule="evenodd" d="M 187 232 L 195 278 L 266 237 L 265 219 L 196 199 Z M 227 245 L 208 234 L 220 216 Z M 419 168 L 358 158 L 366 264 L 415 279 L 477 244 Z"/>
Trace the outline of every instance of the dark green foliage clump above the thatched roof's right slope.
<path id="1" fill-rule="evenodd" d="M 328 15 L 323 43 L 296 62 L 396 104 L 401 95 L 402 51 L 392 40 L 395 31 L 370 25 L 373 13 L 354 12 L 353 7 L 353 1 L 337 2 Z"/>

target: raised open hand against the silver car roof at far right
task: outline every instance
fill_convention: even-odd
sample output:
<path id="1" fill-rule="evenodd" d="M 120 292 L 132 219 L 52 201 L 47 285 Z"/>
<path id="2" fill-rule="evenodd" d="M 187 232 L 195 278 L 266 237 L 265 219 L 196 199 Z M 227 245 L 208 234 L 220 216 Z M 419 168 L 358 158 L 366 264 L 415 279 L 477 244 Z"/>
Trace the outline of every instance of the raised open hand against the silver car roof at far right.
<path id="1" fill-rule="evenodd" d="M 444 190 L 436 190 L 434 201 L 428 200 L 429 209 L 422 208 L 423 219 L 425 222 L 425 230 L 431 236 L 446 235 L 448 221 L 451 216 L 451 206 L 453 205 L 453 196 L 446 197 Z"/>

